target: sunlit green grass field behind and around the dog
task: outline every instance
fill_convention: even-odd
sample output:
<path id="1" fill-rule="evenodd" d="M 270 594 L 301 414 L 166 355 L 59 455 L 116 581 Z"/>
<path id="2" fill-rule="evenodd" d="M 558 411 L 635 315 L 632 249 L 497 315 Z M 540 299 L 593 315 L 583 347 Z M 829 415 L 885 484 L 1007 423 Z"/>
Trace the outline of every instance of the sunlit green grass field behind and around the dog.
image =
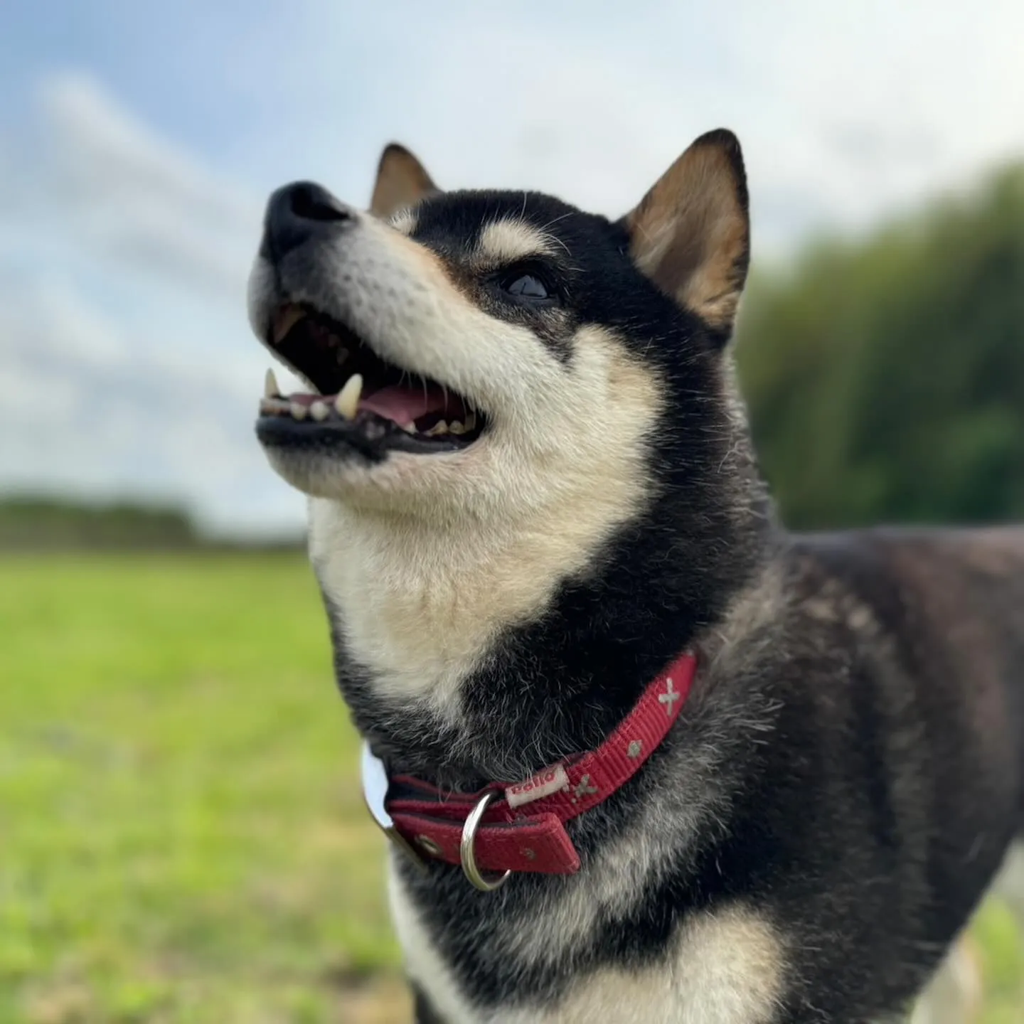
<path id="1" fill-rule="evenodd" d="M 408 1020 L 302 559 L 8 557 L 0 637 L 0 1024 Z"/>

